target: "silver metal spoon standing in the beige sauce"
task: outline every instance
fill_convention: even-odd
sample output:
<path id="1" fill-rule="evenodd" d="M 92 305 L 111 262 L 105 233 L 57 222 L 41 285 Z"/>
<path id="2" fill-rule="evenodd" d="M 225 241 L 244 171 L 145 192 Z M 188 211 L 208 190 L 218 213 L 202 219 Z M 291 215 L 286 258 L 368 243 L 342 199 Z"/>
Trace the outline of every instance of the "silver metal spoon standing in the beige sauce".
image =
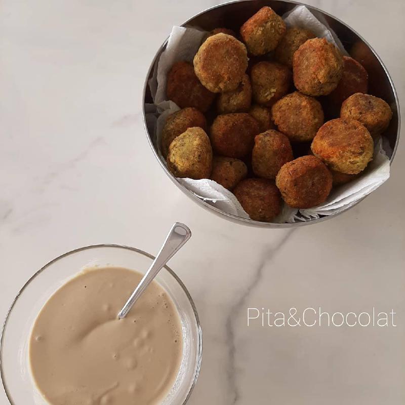
<path id="1" fill-rule="evenodd" d="M 145 291 L 146 287 L 148 287 L 153 278 L 155 278 L 156 274 L 179 251 L 179 249 L 185 244 L 185 242 L 187 242 L 188 239 L 190 239 L 190 237 L 191 231 L 188 226 L 180 222 L 176 222 L 172 226 L 172 229 L 166 236 L 166 239 L 163 242 L 163 245 L 160 248 L 155 260 L 153 260 L 148 271 L 138 284 L 138 287 L 134 290 L 127 303 L 123 306 L 123 309 L 119 311 L 118 319 L 123 319 L 127 316 L 128 312 L 134 306 L 141 294 Z"/>

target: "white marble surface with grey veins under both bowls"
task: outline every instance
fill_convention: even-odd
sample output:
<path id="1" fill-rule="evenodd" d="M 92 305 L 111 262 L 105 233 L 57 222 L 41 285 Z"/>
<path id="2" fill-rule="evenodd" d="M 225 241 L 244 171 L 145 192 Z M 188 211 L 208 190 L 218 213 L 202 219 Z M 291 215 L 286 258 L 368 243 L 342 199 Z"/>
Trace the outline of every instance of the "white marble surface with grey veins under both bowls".
<path id="1" fill-rule="evenodd" d="M 201 209 L 150 151 L 141 119 L 149 63 L 172 25 L 216 3 L 2 2 L 0 318 L 55 256 L 102 242 L 155 253 L 183 221 L 193 237 L 171 266 L 194 297 L 205 339 L 190 405 L 402 404 L 403 140 L 380 189 L 294 231 L 242 227 Z M 309 3 L 368 39 L 404 104 L 403 0 Z M 248 306 L 375 306 L 394 309 L 397 327 L 247 328 Z M 0 403 L 8 403 L 3 392 Z"/>

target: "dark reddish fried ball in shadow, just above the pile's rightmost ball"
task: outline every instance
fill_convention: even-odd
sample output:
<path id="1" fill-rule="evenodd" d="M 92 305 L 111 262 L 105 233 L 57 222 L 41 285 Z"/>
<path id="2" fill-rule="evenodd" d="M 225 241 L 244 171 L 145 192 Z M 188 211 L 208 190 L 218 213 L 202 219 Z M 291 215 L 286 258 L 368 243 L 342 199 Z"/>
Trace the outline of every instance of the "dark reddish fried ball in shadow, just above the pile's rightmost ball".
<path id="1" fill-rule="evenodd" d="M 343 74 L 338 87 L 328 96 L 334 105 L 341 106 L 343 101 L 354 93 L 367 93 L 369 75 L 365 68 L 353 58 L 343 56 Z"/>

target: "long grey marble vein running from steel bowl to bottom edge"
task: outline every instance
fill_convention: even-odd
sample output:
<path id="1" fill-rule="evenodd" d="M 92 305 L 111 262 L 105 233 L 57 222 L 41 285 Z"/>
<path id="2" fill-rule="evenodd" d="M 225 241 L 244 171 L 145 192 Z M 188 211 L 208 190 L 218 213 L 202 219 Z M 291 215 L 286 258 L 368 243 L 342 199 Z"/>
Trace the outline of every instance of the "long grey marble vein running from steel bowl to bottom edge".
<path id="1" fill-rule="evenodd" d="M 235 347 L 235 330 L 233 326 L 233 315 L 238 313 L 241 307 L 244 305 L 248 297 L 252 294 L 255 290 L 256 286 L 260 283 L 262 279 L 263 269 L 266 263 L 269 260 L 272 260 L 274 256 L 277 254 L 279 249 L 287 242 L 290 238 L 291 234 L 294 232 L 295 229 L 291 229 L 288 231 L 282 239 L 274 246 L 266 249 L 260 260 L 260 263 L 257 267 L 256 272 L 252 275 L 251 283 L 246 286 L 246 290 L 243 294 L 240 295 L 239 299 L 230 307 L 229 315 L 226 318 L 225 322 L 225 334 L 226 334 L 226 341 L 228 342 L 228 368 L 227 368 L 227 379 L 229 385 L 229 391 L 231 392 L 232 404 L 236 404 L 239 400 L 239 389 L 236 384 L 236 368 L 235 368 L 235 356 L 236 356 L 236 347 Z"/>

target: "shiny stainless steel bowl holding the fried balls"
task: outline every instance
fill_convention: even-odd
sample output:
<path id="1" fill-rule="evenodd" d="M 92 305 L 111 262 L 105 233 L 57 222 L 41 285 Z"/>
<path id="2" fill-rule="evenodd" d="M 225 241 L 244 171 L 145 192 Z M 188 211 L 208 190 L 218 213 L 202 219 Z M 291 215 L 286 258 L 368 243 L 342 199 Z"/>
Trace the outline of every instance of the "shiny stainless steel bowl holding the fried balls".
<path id="1" fill-rule="evenodd" d="M 186 21 L 183 26 L 201 28 L 210 31 L 217 27 L 226 27 L 238 31 L 238 28 L 253 14 L 255 14 L 263 6 L 270 6 L 277 14 L 282 15 L 287 11 L 292 10 L 296 5 L 301 3 L 292 1 L 281 1 L 281 0 L 242 0 L 231 3 L 226 3 L 220 6 L 213 7 L 206 11 L 203 11 L 196 16 L 190 18 Z M 317 8 L 307 6 L 308 9 L 319 19 L 330 25 L 330 27 L 336 32 L 341 42 L 343 43 L 345 49 L 350 53 L 350 55 L 358 60 L 369 73 L 369 93 L 377 97 L 381 97 L 388 102 L 393 110 L 393 117 L 388 130 L 385 132 L 390 145 L 389 151 L 387 151 L 392 162 L 395 151 L 398 145 L 399 139 L 399 127 L 400 127 L 400 116 L 399 116 L 399 104 L 394 84 L 392 83 L 391 77 L 384 66 L 383 62 L 376 54 L 376 52 L 371 48 L 371 46 L 363 39 L 357 32 L 346 25 L 344 22 L 340 21 L 336 17 L 331 16 Z M 145 105 L 147 103 L 152 103 L 150 96 L 150 91 L 148 87 L 148 80 L 152 76 L 153 69 L 157 61 L 159 60 L 160 54 L 165 50 L 167 41 L 157 50 L 155 57 L 149 67 L 147 77 L 145 80 L 145 86 L 143 90 L 142 99 L 142 109 L 143 109 L 143 119 L 146 130 L 146 135 L 149 144 L 153 150 L 153 153 L 159 162 L 162 169 L 166 174 L 172 179 L 172 181 L 179 187 L 187 196 L 194 200 L 197 204 L 205 209 L 223 217 L 227 218 L 233 222 L 237 222 L 244 225 L 257 226 L 262 228 L 291 228 L 296 226 L 302 226 L 307 224 L 318 223 L 320 221 L 325 221 L 336 217 L 344 211 L 349 210 L 351 207 L 346 208 L 339 213 L 321 217 L 319 219 L 314 219 L 307 222 L 298 222 L 293 224 L 273 224 L 259 221 L 252 221 L 250 219 L 239 218 L 234 215 L 227 214 L 216 207 L 211 206 L 205 201 L 201 200 L 195 196 L 191 191 L 187 190 L 183 185 L 181 185 L 176 178 L 169 172 L 168 168 L 165 166 L 164 162 L 160 160 L 157 153 L 157 149 L 153 143 L 153 134 L 149 131 L 146 116 L 145 116 Z M 359 202 L 359 201 L 358 201 Z"/>

